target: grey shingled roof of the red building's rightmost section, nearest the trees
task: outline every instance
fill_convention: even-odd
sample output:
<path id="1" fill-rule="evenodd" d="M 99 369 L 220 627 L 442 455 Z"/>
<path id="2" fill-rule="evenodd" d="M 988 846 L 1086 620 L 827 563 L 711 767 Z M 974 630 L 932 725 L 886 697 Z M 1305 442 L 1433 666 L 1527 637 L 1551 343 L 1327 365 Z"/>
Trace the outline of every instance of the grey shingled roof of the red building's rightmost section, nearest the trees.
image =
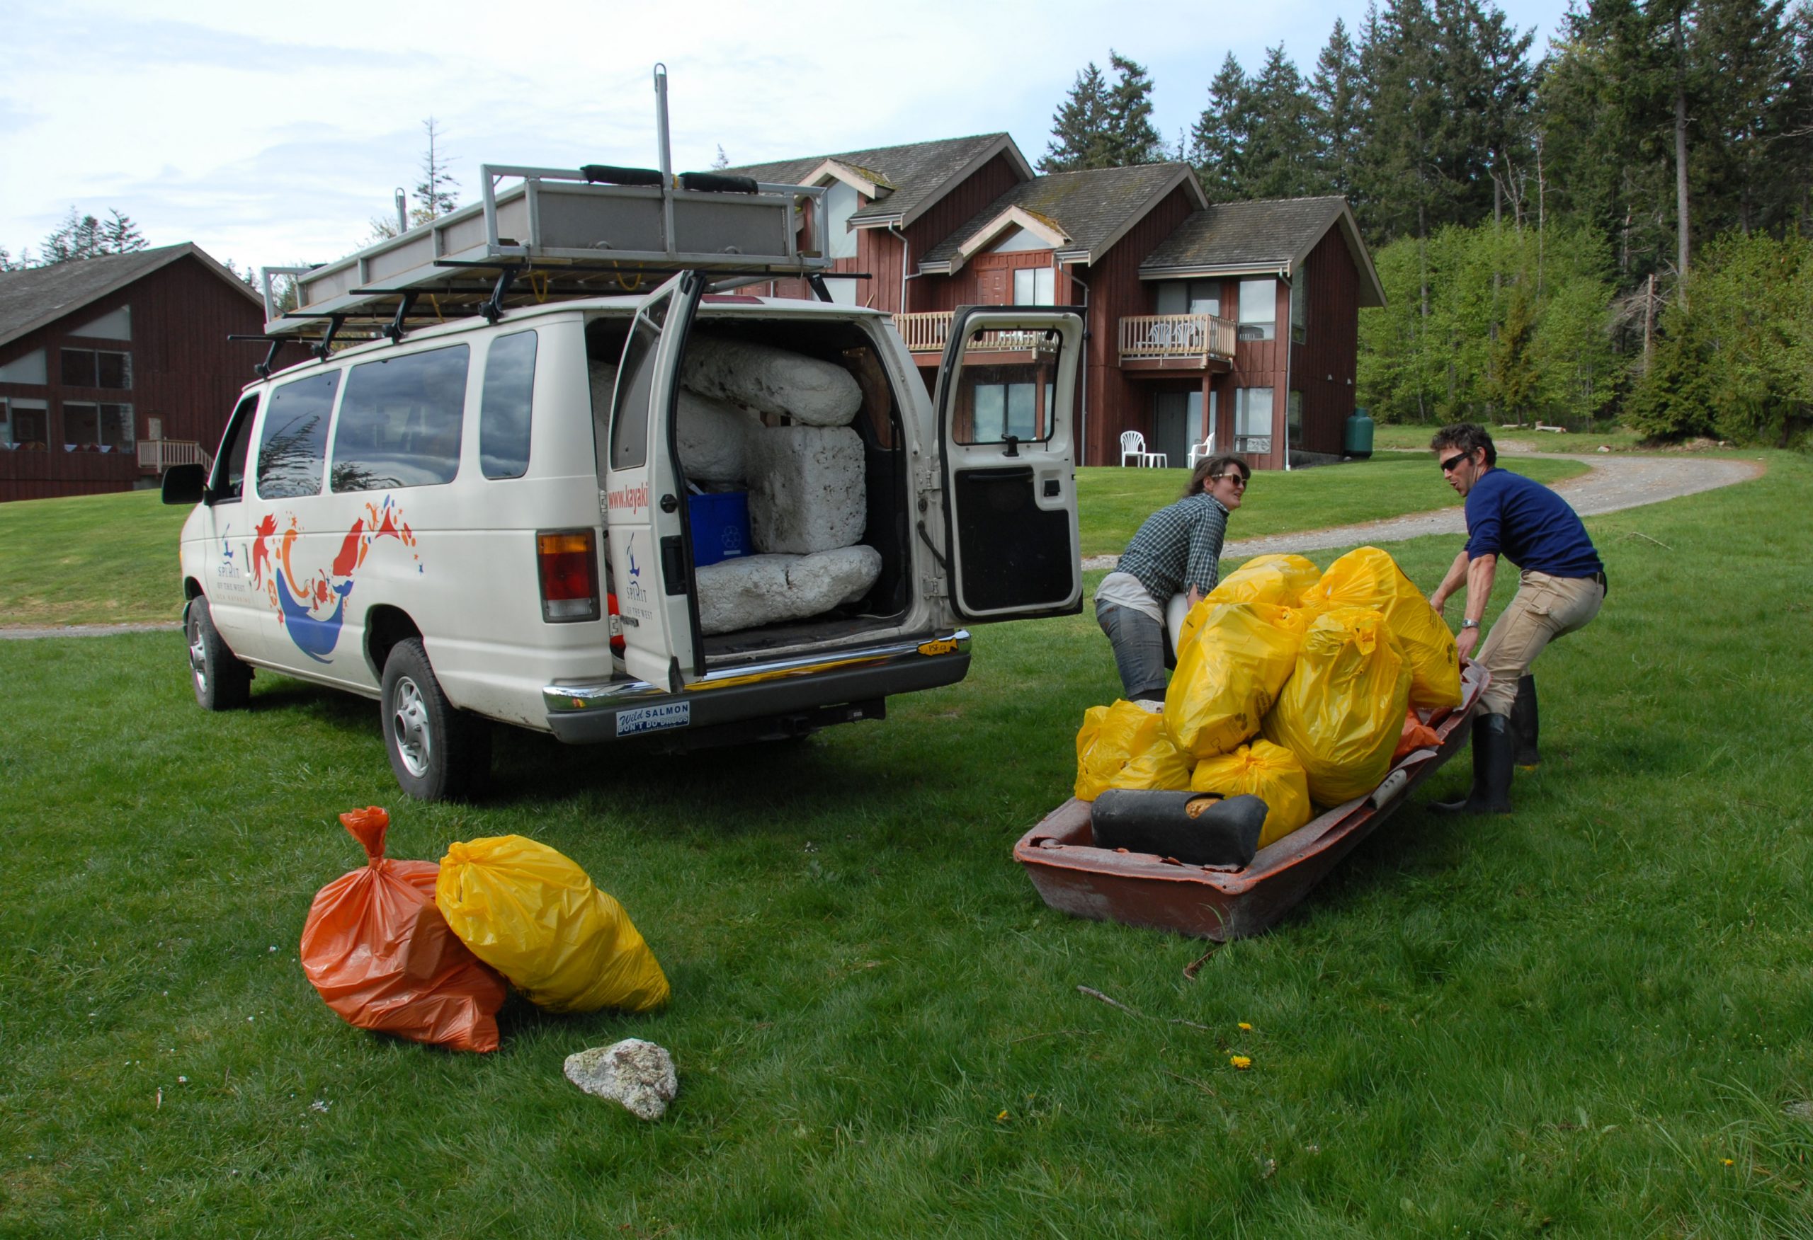
<path id="1" fill-rule="evenodd" d="M 1294 270 L 1338 227 L 1360 270 L 1360 305 L 1383 306 L 1385 286 L 1345 198 L 1275 198 L 1204 207 L 1140 263 L 1140 279 L 1260 276 Z"/>

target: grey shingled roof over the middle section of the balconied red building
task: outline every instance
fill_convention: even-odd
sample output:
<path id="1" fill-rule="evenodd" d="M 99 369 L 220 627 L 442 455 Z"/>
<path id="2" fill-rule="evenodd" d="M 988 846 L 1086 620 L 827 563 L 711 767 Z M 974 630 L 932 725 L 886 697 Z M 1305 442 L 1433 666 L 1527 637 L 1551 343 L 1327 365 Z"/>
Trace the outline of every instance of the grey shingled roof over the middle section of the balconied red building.
<path id="1" fill-rule="evenodd" d="M 1068 237 L 1055 247 L 1061 261 L 1095 263 L 1178 185 L 1189 187 L 1189 196 L 1198 207 L 1206 205 L 1197 174 L 1188 163 L 1052 172 L 1021 181 L 926 250 L 919 270 L 945 276 L 955 272 L 974 248 L 972 237 L 999 232 L 1001 216 L 1015 208 L 1050 221 Z"/>

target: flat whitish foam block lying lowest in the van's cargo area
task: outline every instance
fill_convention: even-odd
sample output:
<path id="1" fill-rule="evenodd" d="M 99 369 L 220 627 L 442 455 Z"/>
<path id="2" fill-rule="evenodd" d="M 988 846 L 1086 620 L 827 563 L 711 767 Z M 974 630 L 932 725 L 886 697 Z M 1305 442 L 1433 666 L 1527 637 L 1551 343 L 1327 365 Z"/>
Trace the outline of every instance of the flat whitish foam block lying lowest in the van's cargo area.
<path id="1" fill-rule="evenodd" d="M 711 636 L 807 620 L 856 602 L 877 576 L 881 553 L 867 546 L 720 560 L 694 571 L 698 627 Z"/>

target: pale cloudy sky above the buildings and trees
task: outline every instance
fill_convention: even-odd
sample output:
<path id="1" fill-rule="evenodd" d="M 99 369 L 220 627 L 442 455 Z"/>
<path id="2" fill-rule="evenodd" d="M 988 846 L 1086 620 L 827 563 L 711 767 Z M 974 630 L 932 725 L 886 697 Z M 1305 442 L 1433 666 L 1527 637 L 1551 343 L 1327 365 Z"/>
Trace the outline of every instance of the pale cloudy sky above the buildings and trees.
<path id="1" fill-rule="evenodd" d="M 1566 0 L 1499 0 L 1532 54 Z M 901 15 L 910 15 L 910 20 Z M 393 218 L 435 118 L 461 203 L 480 163 L 654 167 L 654 62 L 674 170 L 1008 131 L 1028 161 L 1088 62 L 1146 65 L 1168 143 L 1231 51 L 1307 78 L 1365 0 L 1081 4 L 0 0 L 0 247 L 71 208 L 131 216 L 241 270 L 325 263 Z"/>

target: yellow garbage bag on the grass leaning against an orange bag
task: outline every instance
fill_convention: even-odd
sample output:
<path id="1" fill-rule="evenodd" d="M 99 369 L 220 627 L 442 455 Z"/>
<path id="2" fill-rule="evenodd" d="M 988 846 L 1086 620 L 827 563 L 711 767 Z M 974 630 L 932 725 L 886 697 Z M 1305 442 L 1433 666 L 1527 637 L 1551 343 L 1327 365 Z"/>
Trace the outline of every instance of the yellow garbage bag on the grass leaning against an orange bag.
<path id="1" fill-rule="evenodd" d="M 667 975 L 624 906 L 524 836 L 448 845 L 435 906 L 471 954 L 549 1012 L 667 1003 Z"/>

